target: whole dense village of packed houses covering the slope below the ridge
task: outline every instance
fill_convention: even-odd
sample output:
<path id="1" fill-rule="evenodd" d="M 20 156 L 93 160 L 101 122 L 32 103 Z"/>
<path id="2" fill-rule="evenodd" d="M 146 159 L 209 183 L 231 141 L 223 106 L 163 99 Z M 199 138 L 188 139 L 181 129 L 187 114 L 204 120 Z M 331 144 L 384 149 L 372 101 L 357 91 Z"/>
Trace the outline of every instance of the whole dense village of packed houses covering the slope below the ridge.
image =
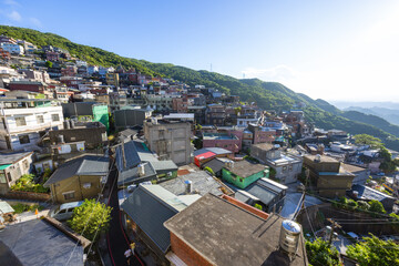
<path id="1" fill-rule="evenodd" d="M 7 35 L 0 94 L 0 265 L 126 265 L 132 243 L 131 265 L 315 265 L 316 239 L 356 265 L 369 233 L 399 242 L 399 153 L 304 102 L 264 110 Z M 66 221 L 93 198 L 112 211 L 88 237 Z"/>

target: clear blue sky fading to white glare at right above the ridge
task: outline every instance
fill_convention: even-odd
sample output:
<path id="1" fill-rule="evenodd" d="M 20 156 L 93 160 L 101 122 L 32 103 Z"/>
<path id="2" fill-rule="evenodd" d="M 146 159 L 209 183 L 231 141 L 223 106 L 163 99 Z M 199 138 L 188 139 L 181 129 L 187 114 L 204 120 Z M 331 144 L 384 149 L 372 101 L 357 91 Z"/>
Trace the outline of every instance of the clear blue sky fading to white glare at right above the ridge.
<path id="1" fill-rule="evenodd" d="M 315 99 L 399 101 L 393 0 L 0 0 L 0 23 L 152 62 L 212 63 Z"/>

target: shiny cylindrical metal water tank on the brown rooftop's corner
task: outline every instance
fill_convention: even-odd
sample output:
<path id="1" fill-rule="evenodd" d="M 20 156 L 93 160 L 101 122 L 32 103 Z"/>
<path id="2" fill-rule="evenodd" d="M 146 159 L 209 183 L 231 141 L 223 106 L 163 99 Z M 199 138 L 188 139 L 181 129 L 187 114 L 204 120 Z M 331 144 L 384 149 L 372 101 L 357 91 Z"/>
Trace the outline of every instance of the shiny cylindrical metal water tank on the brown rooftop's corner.
<path id="1" fill-rule="evenodd" d="M 282 231 L 279 237 L 279 246 L 283 250 L 293 257 L 298 249 L 300 237 L 300 225 L 290 219 L 285 219 L 282 223 Z"/>

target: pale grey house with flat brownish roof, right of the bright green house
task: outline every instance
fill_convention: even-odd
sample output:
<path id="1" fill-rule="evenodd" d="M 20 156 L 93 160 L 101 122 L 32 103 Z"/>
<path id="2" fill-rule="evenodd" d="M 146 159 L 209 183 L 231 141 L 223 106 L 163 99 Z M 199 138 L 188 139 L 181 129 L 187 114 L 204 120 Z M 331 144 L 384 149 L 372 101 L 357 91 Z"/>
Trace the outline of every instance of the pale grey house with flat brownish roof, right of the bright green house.
<path id="1" fill-rule="evenodd" d="M 301 157 L 284 153 L 279 145 L 269 143 L 254 144 L 250 147 L 250 156 L 274 168 L 275 178 L 283 184 L 296 182 L 301 172 Z"/>

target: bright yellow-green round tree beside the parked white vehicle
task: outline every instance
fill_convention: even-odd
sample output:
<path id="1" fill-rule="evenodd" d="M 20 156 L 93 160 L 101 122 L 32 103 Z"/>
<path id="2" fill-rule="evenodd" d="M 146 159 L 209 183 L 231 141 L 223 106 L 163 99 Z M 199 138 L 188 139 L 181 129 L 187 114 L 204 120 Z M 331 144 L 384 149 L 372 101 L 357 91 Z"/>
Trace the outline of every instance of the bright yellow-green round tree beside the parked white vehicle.
<path id="1" fill-rule="evenodd" d="M 95 200 L 84 200 L 84 203 L 73 209 L 73 216 L 68 221 L 69 226 L 90 241 L 95 241 L 101 232 L 105 232 L 111 219 L 111 207 Z M 96 233 L 96 231 L 99 231 Z"/>

